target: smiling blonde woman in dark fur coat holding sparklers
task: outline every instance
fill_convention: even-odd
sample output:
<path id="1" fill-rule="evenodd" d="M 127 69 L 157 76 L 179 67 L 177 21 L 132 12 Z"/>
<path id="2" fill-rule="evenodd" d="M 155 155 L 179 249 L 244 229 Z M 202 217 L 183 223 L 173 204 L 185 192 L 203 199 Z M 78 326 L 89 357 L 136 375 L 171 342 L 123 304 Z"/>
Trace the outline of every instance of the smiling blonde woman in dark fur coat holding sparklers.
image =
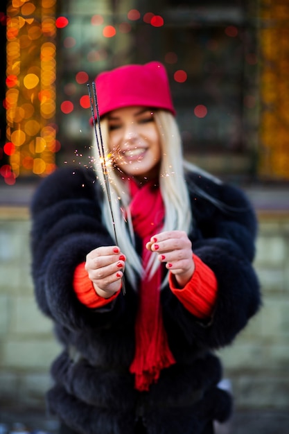
<path id="1" fill-rule="evenodd" d="M 63 345 L 49 409 L 61 433 L 213 433 L 231 413 L 213 351 L 260 304 L 254 212 L 183 162 L 162 64 L 96 89 L 110 200 L 94 144 L 95 171 L 58 169 L 31 206 L 35 295 Z"/>

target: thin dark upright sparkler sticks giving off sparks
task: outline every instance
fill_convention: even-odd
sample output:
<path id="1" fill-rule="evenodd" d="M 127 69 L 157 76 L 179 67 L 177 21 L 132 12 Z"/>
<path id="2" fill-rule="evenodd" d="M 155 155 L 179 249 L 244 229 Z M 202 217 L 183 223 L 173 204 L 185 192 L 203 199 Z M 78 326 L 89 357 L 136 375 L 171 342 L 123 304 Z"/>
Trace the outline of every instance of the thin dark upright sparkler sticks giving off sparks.
<path id="1" fill-rule="evenodd" d="M 116 245 L 119 245 L 119 243 L 117 241 L 117 235 L 116 235 L 116 224 L 115 224 L 115 220 L 114 220 L 114 212 L 112 210 L 112 196 L 110 193 L 110 178 L 109 178 L 108 173 L 107 173 L 107 166 L 106 166 L 106 159 L 105 159 L 105 148 L 103 146 L 103 135 L 101 134 L 101 128 L 100 128 L 100 116 L 99 116 L 99 110 L 98 110 L 98 99 L 97 99 L 97 95 L 96 95 L 96 84 L 94 82 L 92 82 L 92 92 L 93 92 L 94 99 L 91 96 L 91 90 L 90 90 L 89 84 L 87 84 L 87 89 L 88 89 L 88 94 L 89 94 L 89 103 L 90 103 L 91 114 L 92 114 L 92 122 L 94 124 L 94 132 L 95 132 L 95 136 L 96 136 L 98 155 L 99 155 L 99 159 L 100 159 L 101 169 L 103 171 L 105 193 L 107 195 L 107 202 L 108 202 L 109 207 L 110 207 L 110 215 L 112 217 L 112 227 L 114 228 L 114 241 L 115 241 Z M 96 116 L 95 116 L 95 112 L 94 112 L 94 105 L 96 107 Z M 123 288 L 123 295 L 124 295 L 125 294 L 124 275 L 121 278 L 121 281 L 122 281 L 122 288 Z"/>

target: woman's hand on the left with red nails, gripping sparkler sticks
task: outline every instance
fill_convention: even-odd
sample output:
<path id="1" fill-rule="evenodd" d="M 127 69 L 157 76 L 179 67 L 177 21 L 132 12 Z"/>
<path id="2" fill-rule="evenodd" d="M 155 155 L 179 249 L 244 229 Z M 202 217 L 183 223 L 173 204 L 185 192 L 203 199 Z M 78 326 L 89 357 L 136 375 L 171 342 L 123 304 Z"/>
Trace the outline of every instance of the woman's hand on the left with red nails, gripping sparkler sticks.
<path id="1" fill-rule="evenodd" d="M 100 297 L 109 298 L 121 288 L 125 255 L 116 245 L 99 247 L 87 254 L 85 270 Z"/>

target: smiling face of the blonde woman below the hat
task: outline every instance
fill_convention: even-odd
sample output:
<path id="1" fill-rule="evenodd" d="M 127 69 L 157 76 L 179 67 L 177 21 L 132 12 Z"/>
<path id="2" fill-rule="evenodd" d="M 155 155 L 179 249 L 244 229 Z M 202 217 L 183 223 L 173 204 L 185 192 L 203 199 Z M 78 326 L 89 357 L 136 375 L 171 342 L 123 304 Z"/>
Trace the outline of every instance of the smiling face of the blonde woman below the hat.
<path id="1" fill-rule="evenodd" d="M 159 173 L 161 146 L 154 114 L 147 107 L 123 107 L 107 115 L 114 164 L 128 176 L 151 180 Z"/>

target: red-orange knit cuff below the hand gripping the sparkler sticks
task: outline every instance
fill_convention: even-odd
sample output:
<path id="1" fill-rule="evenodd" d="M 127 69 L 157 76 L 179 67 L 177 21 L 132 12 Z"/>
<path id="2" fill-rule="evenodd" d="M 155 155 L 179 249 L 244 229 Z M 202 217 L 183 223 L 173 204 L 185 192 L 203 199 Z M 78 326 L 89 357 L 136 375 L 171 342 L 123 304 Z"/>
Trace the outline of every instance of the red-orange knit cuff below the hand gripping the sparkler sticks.
<path id="1" fill-rule="evenodd" d="M 73 289 L 80 303 L 85 304 L 85 306 L 91 309 L 105 306 L 105 304 L 112 302 L 112 300 L 114 300 L 121 292 L 121 290 L 119 290 L 110 298 L 100 297 L 100 295 L 96 293 L 94 285 L 87 275 L 85 262 L 80 263 L 74 271 Z"/>

